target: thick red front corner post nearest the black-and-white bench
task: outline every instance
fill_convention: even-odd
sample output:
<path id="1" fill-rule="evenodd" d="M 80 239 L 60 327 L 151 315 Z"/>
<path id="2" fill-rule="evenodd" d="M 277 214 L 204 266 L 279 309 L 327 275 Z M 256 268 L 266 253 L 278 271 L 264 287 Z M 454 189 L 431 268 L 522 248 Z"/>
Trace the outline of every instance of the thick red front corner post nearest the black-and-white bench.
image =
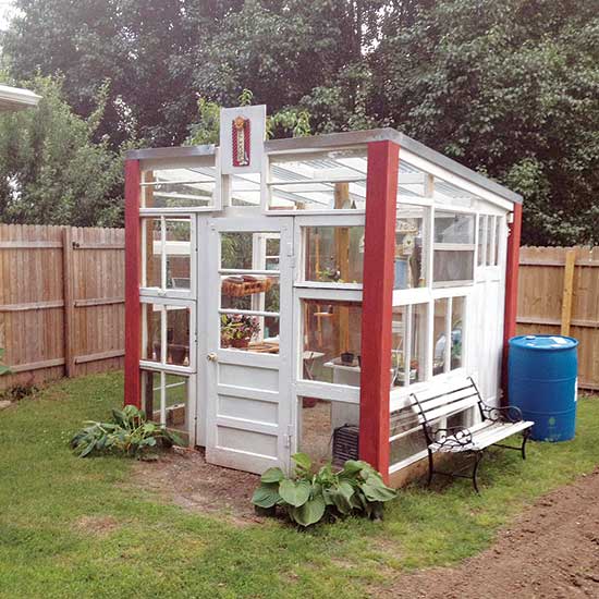
<path id="1" fill-rule="evenodd" d="M 359 456 L 389 478 L 389 393 L 400 146 L 368 144 Z"/>

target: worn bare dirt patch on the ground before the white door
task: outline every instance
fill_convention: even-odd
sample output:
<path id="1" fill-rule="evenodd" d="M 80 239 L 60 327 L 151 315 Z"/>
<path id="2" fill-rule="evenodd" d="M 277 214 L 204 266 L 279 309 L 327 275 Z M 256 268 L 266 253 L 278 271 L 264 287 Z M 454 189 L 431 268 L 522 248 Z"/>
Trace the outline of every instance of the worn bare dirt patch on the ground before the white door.
<path id="1" fill-rule="evenodd" d="M 252 505 L 259 477 L 207 464 L 203 451 L 175 449 L 157 462 L 139 462 L 133 480 L 193 512 L 219 513 L 237 524 L 262 522 Z"/>

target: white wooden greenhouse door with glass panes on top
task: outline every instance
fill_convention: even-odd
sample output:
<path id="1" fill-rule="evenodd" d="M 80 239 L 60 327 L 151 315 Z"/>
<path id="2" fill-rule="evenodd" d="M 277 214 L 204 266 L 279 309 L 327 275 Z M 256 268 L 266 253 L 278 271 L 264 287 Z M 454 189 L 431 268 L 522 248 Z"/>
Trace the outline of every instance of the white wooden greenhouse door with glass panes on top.
<path id="1" fill-rule="evenodd" d="M 207 224 L 206 460 L 257 474 L 271 466 L 286 469 L 293 218 L 221 218 Z M 267 289 L 259 285 L 269 280 L 270 289 L 231 295 L 243 277 L 255 279 L 248 282 L 256 289 Z M 240 316 L 254 319 L 258 331 L 248 347 L 227 346 Z"/>

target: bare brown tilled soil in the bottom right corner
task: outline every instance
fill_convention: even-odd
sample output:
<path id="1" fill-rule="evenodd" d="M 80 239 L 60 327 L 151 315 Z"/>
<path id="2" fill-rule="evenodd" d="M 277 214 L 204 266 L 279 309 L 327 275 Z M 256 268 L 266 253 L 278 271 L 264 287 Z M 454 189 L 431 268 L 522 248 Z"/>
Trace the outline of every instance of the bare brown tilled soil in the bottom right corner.
<path id="1" fill-rule="evenodd" d="M 599 597 L 599 469 L 541 498 L 459 567 L 404 575 L 381 597 Z"/>

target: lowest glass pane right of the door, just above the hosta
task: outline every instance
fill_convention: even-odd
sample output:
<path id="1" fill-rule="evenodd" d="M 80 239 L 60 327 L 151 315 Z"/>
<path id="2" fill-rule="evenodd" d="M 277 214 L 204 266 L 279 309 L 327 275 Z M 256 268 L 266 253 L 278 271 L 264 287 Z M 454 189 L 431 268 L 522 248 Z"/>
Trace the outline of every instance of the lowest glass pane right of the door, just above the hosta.
<path id="1" fill-rule="evenodd" d="M 359 405 L 300 398 L 298 451 L 320 466 L 358 457 Z"/>

